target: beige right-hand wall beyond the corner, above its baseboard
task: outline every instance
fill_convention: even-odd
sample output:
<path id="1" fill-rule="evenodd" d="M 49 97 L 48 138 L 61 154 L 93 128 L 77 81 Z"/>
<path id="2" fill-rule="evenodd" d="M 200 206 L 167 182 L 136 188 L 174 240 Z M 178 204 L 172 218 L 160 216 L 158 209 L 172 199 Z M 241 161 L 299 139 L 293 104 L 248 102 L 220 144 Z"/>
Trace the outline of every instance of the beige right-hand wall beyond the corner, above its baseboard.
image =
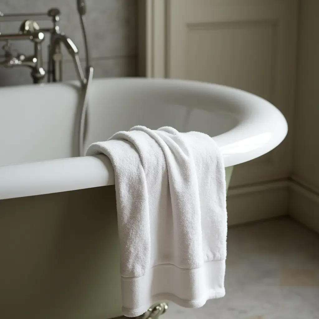
<path id="1" fill-rule="evenodd" d="M 298 44 L 294 175 L 319 189 L 319 1 L 302 0 Z"/>

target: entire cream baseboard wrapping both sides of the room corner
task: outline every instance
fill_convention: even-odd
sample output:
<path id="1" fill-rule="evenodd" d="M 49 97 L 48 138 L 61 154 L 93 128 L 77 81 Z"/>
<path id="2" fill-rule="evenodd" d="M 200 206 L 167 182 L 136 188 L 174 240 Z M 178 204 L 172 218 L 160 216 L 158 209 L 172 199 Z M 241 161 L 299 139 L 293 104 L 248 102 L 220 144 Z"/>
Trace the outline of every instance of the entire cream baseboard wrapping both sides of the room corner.
<path id="1" fill-rule="evenodd" d="M 290 215 L 319 233 L 319 191 L 297 177 L 230 187 L 228 224 Z"/>

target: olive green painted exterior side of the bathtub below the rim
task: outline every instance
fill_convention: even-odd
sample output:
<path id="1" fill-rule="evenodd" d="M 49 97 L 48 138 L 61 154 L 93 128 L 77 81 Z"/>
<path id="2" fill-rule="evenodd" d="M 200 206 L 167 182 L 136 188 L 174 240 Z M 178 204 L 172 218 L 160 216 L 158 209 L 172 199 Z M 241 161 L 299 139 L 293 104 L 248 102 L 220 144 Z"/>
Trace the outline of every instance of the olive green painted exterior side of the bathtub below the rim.
<path id="1" fill-rule="evenodd" d="M 113 185 L 1 200 L 0 251 L 1 318 L 122 315 Z"/>

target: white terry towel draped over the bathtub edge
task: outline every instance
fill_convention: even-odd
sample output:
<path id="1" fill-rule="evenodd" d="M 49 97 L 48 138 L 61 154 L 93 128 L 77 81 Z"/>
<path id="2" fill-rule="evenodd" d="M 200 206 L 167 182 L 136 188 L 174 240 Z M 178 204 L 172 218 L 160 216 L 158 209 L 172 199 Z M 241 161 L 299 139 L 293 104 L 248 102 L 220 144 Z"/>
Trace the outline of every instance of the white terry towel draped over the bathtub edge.
<path id="1" fill-rule="evenodd" d="M 226 181 L 213 139 L 135 126 L 86 155 L 99 153 L 115 171 L 124 315 L 161 300 L 198 308 L 223 297 Z"/>

